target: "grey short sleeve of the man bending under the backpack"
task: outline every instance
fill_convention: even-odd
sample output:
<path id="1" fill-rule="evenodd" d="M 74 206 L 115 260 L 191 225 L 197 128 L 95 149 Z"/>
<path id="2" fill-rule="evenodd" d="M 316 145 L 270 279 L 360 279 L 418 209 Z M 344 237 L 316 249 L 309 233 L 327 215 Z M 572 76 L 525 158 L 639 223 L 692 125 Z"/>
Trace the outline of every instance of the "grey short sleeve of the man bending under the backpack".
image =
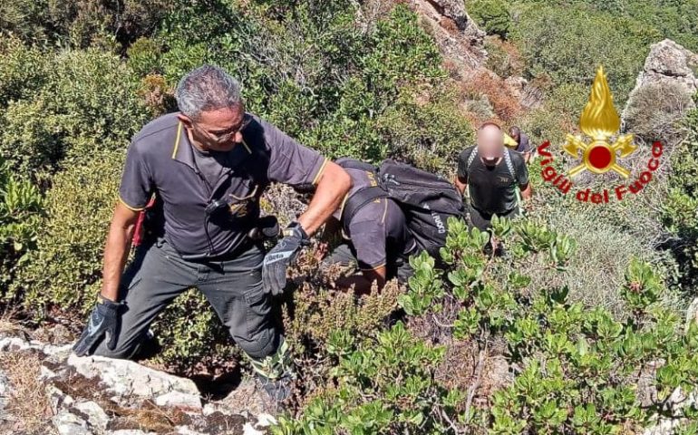
<path id="1" fill-rule="evenodd" d="M 374 270 L 385 266 L 386 230 L 385 210 L 387 201 L 381 199 L 361 208 L 349 224 L 356 261 L 362 270 Z"/>

